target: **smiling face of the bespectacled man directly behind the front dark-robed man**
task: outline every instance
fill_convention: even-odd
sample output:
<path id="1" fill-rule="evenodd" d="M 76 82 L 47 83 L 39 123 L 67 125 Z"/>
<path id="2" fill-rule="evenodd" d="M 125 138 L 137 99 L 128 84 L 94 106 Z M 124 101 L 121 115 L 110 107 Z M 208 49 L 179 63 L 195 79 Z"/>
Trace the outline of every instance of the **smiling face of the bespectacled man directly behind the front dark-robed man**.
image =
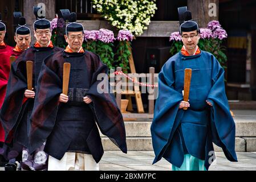
<path id="1" fill-rule="evenodd" d="M 48 43 L 51 40 L 51 30 L 50 28 L 36 29 L 34 31 L 34 36 L 41 46 L 47 47 Z"/>

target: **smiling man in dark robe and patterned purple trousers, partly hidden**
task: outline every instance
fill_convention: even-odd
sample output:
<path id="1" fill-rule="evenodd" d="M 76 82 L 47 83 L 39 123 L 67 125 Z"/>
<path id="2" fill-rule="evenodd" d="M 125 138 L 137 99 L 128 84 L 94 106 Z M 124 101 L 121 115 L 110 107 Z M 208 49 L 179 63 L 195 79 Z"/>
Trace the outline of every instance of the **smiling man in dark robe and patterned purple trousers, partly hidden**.
<path id="1" fill-rule="evenodd" d="M 37 15 L 37 13 L 35 13 Z M 51 23 L 44 17 L 37 17 L 34 22 L 34 36 L 36 43 L 26 49 L 11 65 L 11 72 L 7 84 L 6 97 L 0 112 L 0 120 L 5 130 L 5 143 L 10 147 L 19 144 L 18 155 L 22 151 L 21 168 L 25 170 L 44 170 L 47 168 L 47 154 L 43 152 L 43 145 L 29 155 L 28 125 L 34 105 L 36 83 L 43 60 L 51 53 L 62 50 L 54 47 L 51 42 Z M 33 90 L 27 89 L 26 61 L 33 64 Z M 19 149 L 18 149 L 19 148 Z M 23 149 L 22 149 L 23 148 Z M 9 159 L 14 158 L 12 155 Z M 7 170 L 15 170 L 16 164 L 8 164 Z"/>

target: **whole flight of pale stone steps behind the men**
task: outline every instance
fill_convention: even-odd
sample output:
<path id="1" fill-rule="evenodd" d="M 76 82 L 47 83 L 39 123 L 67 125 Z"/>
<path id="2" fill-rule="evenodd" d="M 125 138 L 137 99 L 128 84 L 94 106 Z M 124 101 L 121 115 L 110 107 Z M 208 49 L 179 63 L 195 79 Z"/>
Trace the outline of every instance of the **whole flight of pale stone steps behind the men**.
<path id="1" fill-rule="evenodd" d="M 235 151 L 256 151 L 256 112 L 253 110 L 232 110 L 234 113 Z M 127 147 L 129 151 L 152 151 L 151 140 L 152 119 L 125 121 Z M 101 134 L 105 150 L 119 150 L 107 137 Z M 222 151 L 214 145 L 215 151 Z"/>

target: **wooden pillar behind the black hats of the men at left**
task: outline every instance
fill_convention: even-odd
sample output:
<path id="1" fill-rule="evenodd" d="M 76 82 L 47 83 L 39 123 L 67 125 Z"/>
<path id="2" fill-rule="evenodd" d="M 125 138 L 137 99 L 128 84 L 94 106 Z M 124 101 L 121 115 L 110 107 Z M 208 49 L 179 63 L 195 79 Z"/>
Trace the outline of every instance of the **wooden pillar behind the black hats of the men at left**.
<path id="1" fill-rule="evenodd" d="M 35 22 L 35 15 L 33 6 L 38 6 L 38 3 L 44 3 L 46 5 L 46 18 L 52 20 L 55 17 L 55 0 L 25 0 L 23 1 L 23 16 L 26 18 L 26 23 L 29 24 L 31 31 L 33 31 L 32 25 Z M 34 34 L 32 33 L 31 44 L 35 43 Z"/>

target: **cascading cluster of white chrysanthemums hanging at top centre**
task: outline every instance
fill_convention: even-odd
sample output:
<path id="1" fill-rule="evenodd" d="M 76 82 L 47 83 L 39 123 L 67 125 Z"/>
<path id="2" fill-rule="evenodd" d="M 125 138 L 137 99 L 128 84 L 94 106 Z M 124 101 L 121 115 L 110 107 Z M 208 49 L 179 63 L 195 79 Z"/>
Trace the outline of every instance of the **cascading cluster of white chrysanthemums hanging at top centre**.
<path id="1" fill-rule="evenodd" d="M 156 0 L 92 0 L 92 7 L 119 29 L 125 28 L 135 35 L 147 30 L 155 14 Z M 102 6 L 101 6 L 102 5 Z"/>

